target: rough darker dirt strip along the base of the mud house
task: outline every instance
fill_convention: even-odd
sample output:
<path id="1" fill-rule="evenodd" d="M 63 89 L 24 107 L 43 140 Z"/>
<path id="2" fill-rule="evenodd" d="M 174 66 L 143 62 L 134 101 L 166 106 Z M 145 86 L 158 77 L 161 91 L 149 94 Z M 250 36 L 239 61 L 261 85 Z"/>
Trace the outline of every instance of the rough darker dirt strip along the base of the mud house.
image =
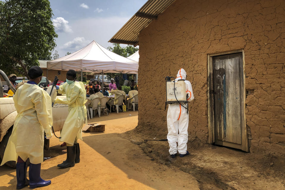
<path id="1" fill-rule="evenodd" d="M 197 140 L 187 143 L 189 156 L 172 159 L 165 141 L 144 139 L 165 139 L 167 132 L 148 129 L 133 129 L 124 137 L 143 148 L 156 162 L 178 167 L 191 174 L 199 183 L 200 190 L 261 190 L 285 189 L 284 159 L 246 153 L 233 148 L 203 144 Z M 162 135 L 165 133 L 165 135 Z M 160 135 L 157 135 L 160 134 Z"/>

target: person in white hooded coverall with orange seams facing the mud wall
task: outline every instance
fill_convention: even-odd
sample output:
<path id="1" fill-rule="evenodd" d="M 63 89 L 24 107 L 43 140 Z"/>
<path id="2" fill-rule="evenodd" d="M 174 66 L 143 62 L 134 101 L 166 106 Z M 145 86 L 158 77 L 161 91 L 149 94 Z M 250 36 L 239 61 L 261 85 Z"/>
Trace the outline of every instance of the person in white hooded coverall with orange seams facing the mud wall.
<path id="1" fill-rule="evenodd" d="M 186 85 L 187 101 L 191 102 L 194 99 L 191 83 L 186 80 L 187 74 L 184 69 L 179 69 L 175 81 L 184 80 Z M 184 107 L 187 104 L 181 103 Z M 167 141 L 169 143 L 169 153 L 172 158 L 175 158 L 177 151 L 180 157 L 189 155 L 187 151 L 188 141 L 188 123 L 189 115 L 186 108 L 179 103 L 169 104 L 167 110 Z M 178 134 L 179 133 L 179 134 Z M 177 146 L 178 143 L 178 146 Z"/>

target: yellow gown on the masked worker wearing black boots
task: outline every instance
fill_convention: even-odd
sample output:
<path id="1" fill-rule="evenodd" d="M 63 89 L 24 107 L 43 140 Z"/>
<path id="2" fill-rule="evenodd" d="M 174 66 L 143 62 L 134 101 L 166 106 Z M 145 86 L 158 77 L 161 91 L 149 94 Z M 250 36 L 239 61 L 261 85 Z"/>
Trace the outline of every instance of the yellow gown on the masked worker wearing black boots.
<path id="1" fill-rule="evenodd" d="M 87 121 L 86 90 L 82 82 L 64 83 L 59 86 L 59 94 L 66 94 L 65 99 L 56 98 L 55 103 L 68 105 L 68 115 L 61 130 L 59 141 L 74 143 L 75 137 L 82 140 L 82 127 Z"/>

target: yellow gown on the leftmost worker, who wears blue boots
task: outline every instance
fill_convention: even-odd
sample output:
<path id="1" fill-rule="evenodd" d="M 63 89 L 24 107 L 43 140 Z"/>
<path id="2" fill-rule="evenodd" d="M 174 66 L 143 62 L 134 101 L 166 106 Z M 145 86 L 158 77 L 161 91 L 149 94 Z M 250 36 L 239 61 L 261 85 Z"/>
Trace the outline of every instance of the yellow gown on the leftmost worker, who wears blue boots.
<path id="1" fill-rule="evenodd" d="M 43 162 L 44 132 L 52 136 L 53 125 L 51 98 L 37 85 L 24 83 L 13 97 L 18 115 L 15 118 L 12 134 L 1 165 L 10 160 L 24 161 L 29 158 L 32 164 Z"/>

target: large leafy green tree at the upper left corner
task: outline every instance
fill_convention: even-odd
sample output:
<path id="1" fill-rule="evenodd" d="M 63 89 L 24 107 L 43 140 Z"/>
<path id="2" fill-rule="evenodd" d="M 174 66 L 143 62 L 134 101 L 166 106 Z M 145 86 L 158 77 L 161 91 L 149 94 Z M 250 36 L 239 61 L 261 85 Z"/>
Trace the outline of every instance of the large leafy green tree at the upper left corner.
<path id="1" fill-rule="evenodd" d="M 0 1 L 0 68 L 28 77 L 39 58 L 50 58 L 58 37 L 48 0 Z"/>

